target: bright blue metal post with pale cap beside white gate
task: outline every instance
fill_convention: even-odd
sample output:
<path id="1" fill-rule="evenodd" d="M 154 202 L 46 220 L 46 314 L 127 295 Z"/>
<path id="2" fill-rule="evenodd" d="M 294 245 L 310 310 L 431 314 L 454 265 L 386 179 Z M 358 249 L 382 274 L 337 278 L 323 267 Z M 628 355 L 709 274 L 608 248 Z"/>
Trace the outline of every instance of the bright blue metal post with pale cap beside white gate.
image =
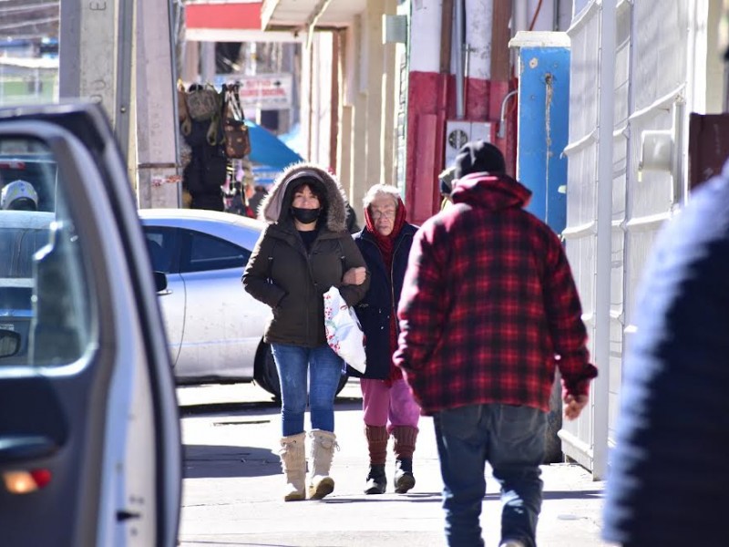
<path id="1" fill-rule="evenodd" d="M 560 233 L 567 223 L 570 50 L 525 46 L 519 60 L 517 178 L 532 191 L 528 211 Z"/>

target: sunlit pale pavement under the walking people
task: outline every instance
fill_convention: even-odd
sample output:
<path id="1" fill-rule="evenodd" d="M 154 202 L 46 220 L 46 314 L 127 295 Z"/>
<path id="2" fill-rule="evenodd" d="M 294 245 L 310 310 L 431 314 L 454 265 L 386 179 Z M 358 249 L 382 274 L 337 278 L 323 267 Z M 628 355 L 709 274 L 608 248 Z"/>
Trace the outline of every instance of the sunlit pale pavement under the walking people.
<path id="1" fill-rule="evenodd" d="M 414 458 L 416 487 L 364 495 L 367 449 L 359 384 L 337 398 L 334 493 L 322 501 L 282 501 L 277 454 L 279 408 L 253 384 L 179 387 L 185 455 L 180 546 L 443 546 L 442 483 L 431 418 L 421 418 Z M 306 424 L 308 427 L 308 414 Z M 394 459 L 388 447 L 387 478 Z M 307 445 L 308 450 L 308 445 Z M 605 547 L 603 482 L 577 465 L 544 466 L 539 547 Z M 489 480 L 481 524 L 498 546 L 498 484 Z"/>

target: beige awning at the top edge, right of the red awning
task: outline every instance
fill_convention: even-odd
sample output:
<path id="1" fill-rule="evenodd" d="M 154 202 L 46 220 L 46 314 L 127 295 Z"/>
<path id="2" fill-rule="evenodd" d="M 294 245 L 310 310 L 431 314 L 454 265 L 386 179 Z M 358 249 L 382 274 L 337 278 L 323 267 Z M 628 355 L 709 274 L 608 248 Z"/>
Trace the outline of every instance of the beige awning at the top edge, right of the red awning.
<path id="1" fill-rule="evenodd" d="M 366 0 L 263 0 L 261 23 L 266 30 L 342 28 L 366 7 Z"/>

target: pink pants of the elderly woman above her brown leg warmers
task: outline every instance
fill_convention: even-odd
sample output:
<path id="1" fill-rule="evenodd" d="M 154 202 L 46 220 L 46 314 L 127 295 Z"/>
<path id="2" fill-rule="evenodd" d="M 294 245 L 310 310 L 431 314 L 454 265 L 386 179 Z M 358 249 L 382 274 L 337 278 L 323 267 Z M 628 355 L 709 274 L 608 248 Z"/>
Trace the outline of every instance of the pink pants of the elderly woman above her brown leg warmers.
<path id="1" fill-rule="evenodd" d="M 388 385 L 385 380 L 360 378 L 359 385 L 365 425 L 386 426 L 388 433 L 395 426 L 417 428 L 420 407 L 405 380 L 395 380 Z"/>

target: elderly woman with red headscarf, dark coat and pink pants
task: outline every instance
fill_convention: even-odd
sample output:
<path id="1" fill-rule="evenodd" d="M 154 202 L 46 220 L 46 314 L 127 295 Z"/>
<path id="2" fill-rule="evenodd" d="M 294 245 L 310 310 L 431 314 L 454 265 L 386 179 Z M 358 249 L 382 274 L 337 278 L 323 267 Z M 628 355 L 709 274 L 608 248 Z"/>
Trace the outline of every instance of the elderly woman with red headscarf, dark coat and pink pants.
<path id="1" fill-rule="evenodd" d="M 375 184 L 364 196 L 364 222 L 354 235 L 367 270 L 370 287 L 354 308 L 366 336 L 367 369 L 361 375 L 364 433 L 370 469 L 364 493 L 385 492 L 387 440 L 395 439 L 395 491 L 415 486 L 413 451 L 416 448 L 417 406 L 402 372 L 393 364 L 397 347 L 396 308 L 403 287 L 407 255 L 416 227 L 406 222 L 406 208 L 394 186 Z"/>

